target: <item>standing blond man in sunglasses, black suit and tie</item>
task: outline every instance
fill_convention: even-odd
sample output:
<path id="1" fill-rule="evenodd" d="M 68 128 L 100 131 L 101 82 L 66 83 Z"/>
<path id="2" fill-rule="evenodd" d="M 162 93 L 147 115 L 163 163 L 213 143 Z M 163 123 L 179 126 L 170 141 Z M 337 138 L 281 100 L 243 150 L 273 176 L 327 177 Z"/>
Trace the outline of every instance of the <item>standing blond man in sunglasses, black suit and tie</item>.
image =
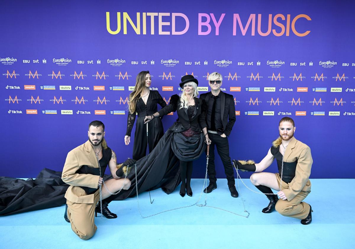
<path id="1" fill-rule="evenodd" d="M 222 86 L 222 75 L 214 72 L 208 77 L 211 91 L 201 94 L 200 99 L 206 101 L 206 123 L 207 132 L 212 143 L 209 148 L 208 160 L 208 177 L 209 185 L 204 189 L 205 193 L 211 193 L 217 188 L 217 178 L 214 165 L 214 147 L 217 147 L 217 152 L 224 166 L 224 173 L 228 180 L 228 188 L 230 195 L 238 197 L 238 192 L 235 189 L 234 171 L 229 157 L 228 136 L 232 131 L 235 123 L 235 106 L 233 96 L 226 94 L 220 90 Z M 207 154 L 207 150 L 206 150 Z"/>

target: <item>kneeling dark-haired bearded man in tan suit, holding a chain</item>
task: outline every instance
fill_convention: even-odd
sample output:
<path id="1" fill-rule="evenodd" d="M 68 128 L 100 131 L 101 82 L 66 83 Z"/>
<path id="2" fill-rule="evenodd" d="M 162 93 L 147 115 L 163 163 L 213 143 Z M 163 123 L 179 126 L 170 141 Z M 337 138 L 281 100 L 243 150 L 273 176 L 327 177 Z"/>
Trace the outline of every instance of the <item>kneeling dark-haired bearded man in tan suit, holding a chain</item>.
<path id="1" fill-rule="evenodd" d="M 89 140 L 68 153 L 62 172 L 62 180 L 70 185 L 65 194 L 67 206 L 64 218 L 70 222 L 73 232 L 84 240 L 91 238 L 97 229 L 94 212 L 102 213 L 107 218 L 117 217 L 104 202 L 99 202 L 99 186 L 103 183 L 107 165 L 114 179 L 105 181 L 109 191 L 102 185 L 101 200 L 131 186 L 131 181 L 124 179 L 124 174 L 135 164 L 135 160 L 129 159 L 117 165 L 116 154 L 107 147 L 104 136 L 104 124 L 101 121 L 91 122 Z"/>

